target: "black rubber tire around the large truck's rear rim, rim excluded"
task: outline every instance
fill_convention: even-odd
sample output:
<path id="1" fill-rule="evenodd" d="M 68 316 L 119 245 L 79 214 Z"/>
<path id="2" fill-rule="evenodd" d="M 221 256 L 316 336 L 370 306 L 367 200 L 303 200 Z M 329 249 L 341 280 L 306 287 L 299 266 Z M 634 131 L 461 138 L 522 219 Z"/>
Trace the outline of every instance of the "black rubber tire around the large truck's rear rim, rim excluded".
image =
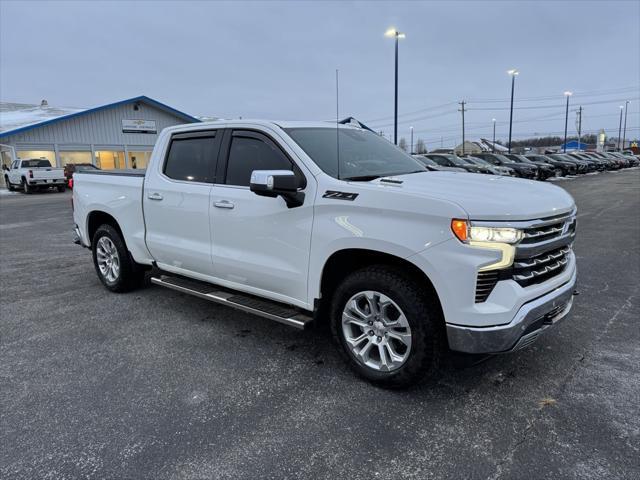
<path id="1" fill-rule="evenodd" d="M 118 256 L 119 272 L 117 276 L 109 280 L 100 270 L 98 264 L 98 245 L 103 237 L 107 237 L 115 247 Z M 144 283 L 144 268 L 133 261 L 120 233 L 111 225 L 101 225 L 96 230 L 91 241 L 93 253 L 93 266 L 102 284 L 112 292 L 125 293 L 139 288 Z"/>

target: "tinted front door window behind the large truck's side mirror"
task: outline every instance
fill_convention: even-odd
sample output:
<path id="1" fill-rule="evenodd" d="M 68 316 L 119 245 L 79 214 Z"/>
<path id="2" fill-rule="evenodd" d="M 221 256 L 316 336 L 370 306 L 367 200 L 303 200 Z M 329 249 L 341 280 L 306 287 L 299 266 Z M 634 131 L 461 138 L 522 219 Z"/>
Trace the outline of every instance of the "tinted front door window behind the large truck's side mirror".
<path id="1" fill-rule="evenodd" d="M 292 170 L 291 162 L 270 143 L 255 137 L 233 136 L 227 163 L 227 185 L 249 186 L 254 170 Z"/>

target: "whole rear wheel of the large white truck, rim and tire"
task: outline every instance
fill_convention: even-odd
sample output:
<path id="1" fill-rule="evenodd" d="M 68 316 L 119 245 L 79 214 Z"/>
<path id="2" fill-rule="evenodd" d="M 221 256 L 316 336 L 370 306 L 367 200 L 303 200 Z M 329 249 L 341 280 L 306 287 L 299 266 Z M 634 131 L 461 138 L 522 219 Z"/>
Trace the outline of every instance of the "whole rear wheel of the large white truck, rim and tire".
<path id="1" fill-rule="evenodd" d="M 93 264 L 102 284 L 112 292 L 138 288 L 144 281 L 144 269 L 135 263 L 120 233 L 111 225 L 101 225 L 91 242 Z"/>

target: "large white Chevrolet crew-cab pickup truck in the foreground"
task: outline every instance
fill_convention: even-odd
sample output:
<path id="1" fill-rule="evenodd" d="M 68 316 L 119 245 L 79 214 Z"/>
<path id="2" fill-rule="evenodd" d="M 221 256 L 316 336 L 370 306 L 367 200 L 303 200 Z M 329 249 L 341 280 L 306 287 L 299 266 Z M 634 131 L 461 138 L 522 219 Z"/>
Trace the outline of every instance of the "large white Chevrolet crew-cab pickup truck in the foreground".
<path id="1" fill-rule="evenodd" d="M 76 242 L 111 291 L 151 282 L 287 325 L 329 322 L 350 365 L 403 387 L 447 347 L 501 353 L 567 315 L 576 206 L 532 180 L 429 172 L 331 123 L 165 129 L 146 170 L 79 172 Z"/>

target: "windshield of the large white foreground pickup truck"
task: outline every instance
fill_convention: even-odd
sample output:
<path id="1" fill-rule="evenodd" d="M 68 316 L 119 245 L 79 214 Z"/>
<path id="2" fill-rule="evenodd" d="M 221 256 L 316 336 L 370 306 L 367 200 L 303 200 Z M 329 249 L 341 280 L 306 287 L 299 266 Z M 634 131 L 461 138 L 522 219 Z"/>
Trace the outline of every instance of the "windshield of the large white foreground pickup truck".
<path id="1" fill-rule="evenodd" d="M 328 175 L 338 178 L 373 180 L 389 175 L 428 171 L 418 160 L 388 140 L 366 130 L 340 128 L 287 128 L 285 131 Z"/>

